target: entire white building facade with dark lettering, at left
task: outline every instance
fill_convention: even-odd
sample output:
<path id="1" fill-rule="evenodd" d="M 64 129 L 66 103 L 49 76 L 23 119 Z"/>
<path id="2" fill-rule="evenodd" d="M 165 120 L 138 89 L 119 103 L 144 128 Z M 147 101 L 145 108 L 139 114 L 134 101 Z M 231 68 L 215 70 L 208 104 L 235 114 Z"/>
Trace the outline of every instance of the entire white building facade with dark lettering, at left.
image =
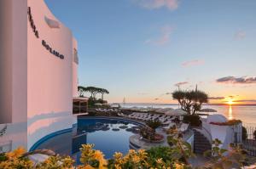
<path id="1" fill-rule="evenodd" d="M 0 21 L 0 148 L 29 150 L 76 123 L 78 45 L 44 0 L 1 0 Z"/>

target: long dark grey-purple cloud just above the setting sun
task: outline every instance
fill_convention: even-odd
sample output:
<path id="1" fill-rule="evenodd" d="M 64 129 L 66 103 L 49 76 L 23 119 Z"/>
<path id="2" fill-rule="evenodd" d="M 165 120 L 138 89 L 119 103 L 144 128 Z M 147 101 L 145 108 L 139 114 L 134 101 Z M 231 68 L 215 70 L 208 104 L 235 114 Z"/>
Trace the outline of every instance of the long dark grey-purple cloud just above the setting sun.
<path id="1" fill-rule="evenodd" d="M 256 83 L 256 76 L 225 76 L 216 80 L 218 83 L 225 83 L 225 84 L 253 84 Z"/>

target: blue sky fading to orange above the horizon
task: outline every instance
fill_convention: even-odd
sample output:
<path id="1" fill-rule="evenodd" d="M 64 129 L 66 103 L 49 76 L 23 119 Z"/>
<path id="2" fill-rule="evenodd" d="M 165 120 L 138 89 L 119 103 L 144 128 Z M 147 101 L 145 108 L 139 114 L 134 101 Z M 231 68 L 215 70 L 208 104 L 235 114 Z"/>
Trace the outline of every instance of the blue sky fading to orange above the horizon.
<path id="1" fill-rule="evenodd" d="M 255 0 L 45 2 L 79 42 L 80 85 L 110 102 L 174 103 L 179 83 L 256 103 Z"/>

